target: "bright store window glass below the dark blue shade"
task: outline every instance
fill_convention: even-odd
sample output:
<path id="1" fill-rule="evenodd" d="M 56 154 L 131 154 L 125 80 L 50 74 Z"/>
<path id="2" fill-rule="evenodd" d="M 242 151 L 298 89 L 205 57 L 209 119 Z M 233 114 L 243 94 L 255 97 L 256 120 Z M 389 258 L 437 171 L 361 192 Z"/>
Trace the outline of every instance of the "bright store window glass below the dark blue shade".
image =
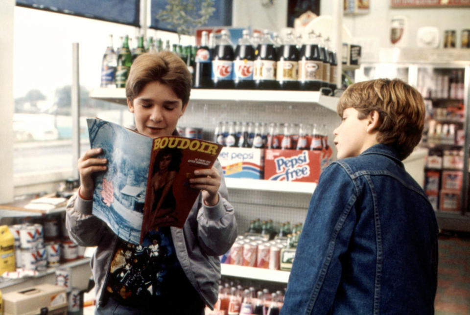
<path id="1" fill-rule="evenodd" d="M 87 117 L 132 121 L 126 107 L 91 99 L 89 92 L 99 87 L 108 35 L 135 36 L 138 28 L 24 6 L 15 6 L 14 14 L 15 184 L 51 180 L 51 174 L 61 177 L 57 180 L 76 176 L 71 174 L 76 165 L 71 143 L 72 43 L 79 43 L 83 153 L 89 147 Z"/>

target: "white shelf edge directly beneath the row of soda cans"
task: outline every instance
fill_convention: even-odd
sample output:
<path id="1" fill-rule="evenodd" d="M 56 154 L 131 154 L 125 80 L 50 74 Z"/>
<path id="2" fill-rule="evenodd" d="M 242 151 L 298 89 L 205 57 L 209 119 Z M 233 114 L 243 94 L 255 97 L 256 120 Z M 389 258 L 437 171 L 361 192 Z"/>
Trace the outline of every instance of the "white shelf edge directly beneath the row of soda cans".
<path id="1" fill-rule="evenodd" d="M 220 266 L 221 273 L 225 276 L 280 283 L 287 283 L 287 281 L 289 281 L 289 271 L 245 267 L 229 264 L 220 264 Z"/>

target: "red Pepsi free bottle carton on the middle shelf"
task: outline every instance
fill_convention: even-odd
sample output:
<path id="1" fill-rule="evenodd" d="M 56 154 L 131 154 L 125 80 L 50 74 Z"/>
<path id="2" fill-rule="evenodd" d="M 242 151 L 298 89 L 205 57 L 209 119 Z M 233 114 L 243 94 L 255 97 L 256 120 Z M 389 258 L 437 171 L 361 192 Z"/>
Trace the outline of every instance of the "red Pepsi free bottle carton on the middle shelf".
<path id="1" fill-rule="evenodd" d="M 318 183 L 322 159 L 328 159 L 324 151 L 267 149 L 264 179 Z"/>

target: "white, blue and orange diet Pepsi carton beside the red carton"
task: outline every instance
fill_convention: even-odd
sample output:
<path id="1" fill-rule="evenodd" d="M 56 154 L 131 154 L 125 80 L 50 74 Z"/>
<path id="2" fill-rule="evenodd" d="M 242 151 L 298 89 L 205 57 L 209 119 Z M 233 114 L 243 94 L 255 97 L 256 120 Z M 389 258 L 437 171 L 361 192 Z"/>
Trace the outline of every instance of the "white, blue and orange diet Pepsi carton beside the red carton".
<path id="1" fill-rule="evenodd" d="M 218 159 L 225 177 L 263 178 L 264 149 L 223 147 Z"/>

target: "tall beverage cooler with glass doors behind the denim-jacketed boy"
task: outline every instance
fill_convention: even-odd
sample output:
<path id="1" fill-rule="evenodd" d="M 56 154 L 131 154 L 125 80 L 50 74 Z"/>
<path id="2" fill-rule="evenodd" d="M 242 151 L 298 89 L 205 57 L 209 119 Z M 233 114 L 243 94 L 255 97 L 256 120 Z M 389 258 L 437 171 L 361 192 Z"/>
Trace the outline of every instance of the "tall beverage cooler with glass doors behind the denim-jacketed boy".
<path id="1" fill-rule="evenodd" d="M 428 154 L 420 184 L 441 229 L 470 231 L 469 50 L 383 49 L 379 62 L 363 62 L 355 76 L 356 81 L 400 78 L 422 93 L 426 119 L 420 145 Z"/>

